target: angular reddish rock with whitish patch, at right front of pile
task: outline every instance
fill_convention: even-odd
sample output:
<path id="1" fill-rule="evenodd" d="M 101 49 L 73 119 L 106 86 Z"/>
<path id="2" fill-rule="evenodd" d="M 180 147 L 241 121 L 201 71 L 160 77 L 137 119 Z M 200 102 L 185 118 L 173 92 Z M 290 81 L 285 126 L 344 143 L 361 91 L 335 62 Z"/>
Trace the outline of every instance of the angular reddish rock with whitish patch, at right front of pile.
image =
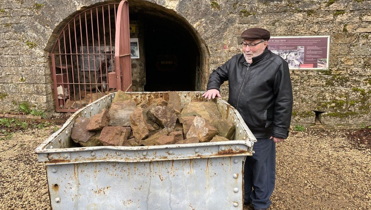
<path id="1" fill-rule="evenodd" d="M 190 127 L 186 137 L 197 137 L 200 142 L 208 142 L 218 134 L 218 130 L 202 117 L 194 117 L 193 124 Z"/>

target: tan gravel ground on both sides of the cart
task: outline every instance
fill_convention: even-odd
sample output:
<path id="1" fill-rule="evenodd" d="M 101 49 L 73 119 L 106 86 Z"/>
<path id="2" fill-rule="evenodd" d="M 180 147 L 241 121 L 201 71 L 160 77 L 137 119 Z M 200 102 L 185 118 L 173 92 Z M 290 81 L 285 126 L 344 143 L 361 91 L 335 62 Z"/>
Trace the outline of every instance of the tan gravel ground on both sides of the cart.
<path id="1" fill-rule="evenodd" d="M 45 167 L 34 150 L 55 129 L 34 128 L 1 138 L 0 209 L 50 209 Z M 277 144 L 269 209 L 371 209 L 370 145 L 371 129 L 292 131 Z"/>

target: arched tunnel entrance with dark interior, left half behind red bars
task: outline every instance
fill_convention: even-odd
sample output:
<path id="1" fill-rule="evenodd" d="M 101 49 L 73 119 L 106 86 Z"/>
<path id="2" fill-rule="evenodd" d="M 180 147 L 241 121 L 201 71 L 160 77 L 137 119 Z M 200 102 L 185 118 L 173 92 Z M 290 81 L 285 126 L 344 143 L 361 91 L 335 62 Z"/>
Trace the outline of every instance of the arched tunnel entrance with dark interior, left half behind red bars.
<path id="1" fill-rule="evenodd" d="M 63 26 L 60 24 L 50 51 L 54 83 L 62 84 L 63 96 L 55 94 L 58 111 L 74 111 L 83 100 L 85 104 L 91 102 L 92 95 L 114 91 L 104 83 L 109 80 L 109 66 L 115 65 L 112 43 L 116 27 L 112 20 L 116 18 L 116 4 L 90 6 L 93 9 L 76 12 L 77 16 L 74 13 Z M 142 0 L 129 1 L 129 20 L 131 47 L 137 50 L 131 59 L 133 91 L 204 90 L 210 54 L 187 20 L 172 9 Z M 96 81 L 100 84 L 93 84 Z"/>

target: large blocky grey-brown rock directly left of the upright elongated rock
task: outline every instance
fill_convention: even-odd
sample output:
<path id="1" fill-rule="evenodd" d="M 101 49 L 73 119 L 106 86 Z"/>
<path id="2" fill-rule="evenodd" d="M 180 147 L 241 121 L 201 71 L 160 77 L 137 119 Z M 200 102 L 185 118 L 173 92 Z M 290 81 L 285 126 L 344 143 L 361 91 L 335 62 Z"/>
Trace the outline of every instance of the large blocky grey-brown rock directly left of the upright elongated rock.
<path id="1" fill-rule="evenodd" d="M 130 126 L 130 115 L 137 108 L 133 100 L 117 101 L 109 109 L 110 126 Z"/>

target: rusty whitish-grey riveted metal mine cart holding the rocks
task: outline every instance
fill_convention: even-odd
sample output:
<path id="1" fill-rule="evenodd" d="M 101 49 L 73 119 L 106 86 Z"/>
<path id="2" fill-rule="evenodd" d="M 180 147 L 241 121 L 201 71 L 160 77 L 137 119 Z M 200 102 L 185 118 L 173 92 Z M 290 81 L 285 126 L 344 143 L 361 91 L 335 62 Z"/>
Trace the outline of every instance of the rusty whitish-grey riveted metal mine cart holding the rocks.
<path id="1" fill-rule="evenodd" d="M 133 100 L 167 92 L 131 92 Z M 201 92 L 178 92 L 181 106 L 206 100 Z M 53 210 L 242 210 L 243 164 L 256 141 L 242 117 L 226 101 L 213 102 L 223 119 L 236 125 L 233 141 L 164 146 L 74 147 L 77 117 L 91 118 L 108 108 L 111 93 L 74 113 L 36 149 L 44 162 Z"/>

